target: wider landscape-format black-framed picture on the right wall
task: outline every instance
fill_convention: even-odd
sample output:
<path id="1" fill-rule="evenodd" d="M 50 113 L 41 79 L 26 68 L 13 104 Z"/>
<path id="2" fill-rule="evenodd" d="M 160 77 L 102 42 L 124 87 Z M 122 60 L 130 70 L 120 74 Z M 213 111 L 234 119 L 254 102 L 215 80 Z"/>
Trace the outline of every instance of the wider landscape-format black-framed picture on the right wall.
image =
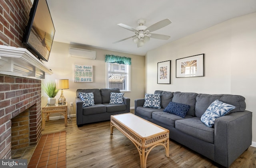
<path id="1" fill-rule="evenodd" d="M 204 54 L 176 59 L 176 78 L 204 76 Z"/>

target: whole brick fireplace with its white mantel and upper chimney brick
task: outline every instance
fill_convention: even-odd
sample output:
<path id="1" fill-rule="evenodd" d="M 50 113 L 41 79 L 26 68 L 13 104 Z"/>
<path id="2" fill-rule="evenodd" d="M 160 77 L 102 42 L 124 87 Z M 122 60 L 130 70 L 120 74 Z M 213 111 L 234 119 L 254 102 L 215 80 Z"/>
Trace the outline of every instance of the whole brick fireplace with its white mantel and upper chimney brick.
<path id="1" fill-rule="evenodd" d="M 31 7 L 31 0 L 0 3 L 0 159 L 10 159 L 12 148 L 36 145 L 41 137 L 40 79 L 52 72 L 22 44 Z M 12 124 L 18 132 L 11 133 Z M 11 143 L 11 134 L 21 141 Z"/>

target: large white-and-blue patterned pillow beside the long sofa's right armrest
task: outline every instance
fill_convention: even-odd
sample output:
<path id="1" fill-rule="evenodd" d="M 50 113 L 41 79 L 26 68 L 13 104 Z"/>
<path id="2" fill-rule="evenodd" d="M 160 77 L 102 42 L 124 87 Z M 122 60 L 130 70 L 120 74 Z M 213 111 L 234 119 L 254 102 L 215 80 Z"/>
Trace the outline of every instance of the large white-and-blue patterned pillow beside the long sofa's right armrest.
<path id="1" fill-rule="evenodd" d="M 201 117 L 201 121 L 207 126 L 212 127 L 215 123 L 215 120 L 223 115 L 226 115 L 230 110 L 234 109 L 234 105 L 226 104 L 215 100 L 212 104 L 206 109 L 204 114 Z"/>

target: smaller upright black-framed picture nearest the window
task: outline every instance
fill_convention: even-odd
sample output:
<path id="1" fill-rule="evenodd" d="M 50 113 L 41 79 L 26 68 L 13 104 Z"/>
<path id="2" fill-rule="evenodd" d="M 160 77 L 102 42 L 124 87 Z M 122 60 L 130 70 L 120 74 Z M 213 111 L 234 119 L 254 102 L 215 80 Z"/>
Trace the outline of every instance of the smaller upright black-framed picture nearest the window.
<path id="1" fill-rule="evenodd" d="M 157 63 L 157 83 L 171 84 L 171 61 Z"/>

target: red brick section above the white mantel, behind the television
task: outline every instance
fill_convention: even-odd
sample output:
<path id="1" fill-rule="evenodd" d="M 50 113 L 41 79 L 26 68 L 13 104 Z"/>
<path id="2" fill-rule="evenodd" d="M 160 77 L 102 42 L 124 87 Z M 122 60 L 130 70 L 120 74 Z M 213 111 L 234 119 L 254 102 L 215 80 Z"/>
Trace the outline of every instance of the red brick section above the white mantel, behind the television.
<path id="1" fill-rule="evenodd" d="M 30 0 L 0 0 L 0 45 L 24 47 L 22 39 L 31 7 Z"/>

